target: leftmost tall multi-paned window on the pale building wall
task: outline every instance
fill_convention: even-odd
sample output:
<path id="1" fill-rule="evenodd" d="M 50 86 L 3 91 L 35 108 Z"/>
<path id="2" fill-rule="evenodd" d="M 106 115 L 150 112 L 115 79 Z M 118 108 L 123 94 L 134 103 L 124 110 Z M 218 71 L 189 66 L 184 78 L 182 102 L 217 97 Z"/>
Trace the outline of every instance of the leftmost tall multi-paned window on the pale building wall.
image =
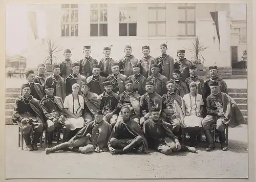
<path id="1" fill-rule="evenodd" d="M 61 36 L 78 36 L 78 4 L 62 4 Z"/>

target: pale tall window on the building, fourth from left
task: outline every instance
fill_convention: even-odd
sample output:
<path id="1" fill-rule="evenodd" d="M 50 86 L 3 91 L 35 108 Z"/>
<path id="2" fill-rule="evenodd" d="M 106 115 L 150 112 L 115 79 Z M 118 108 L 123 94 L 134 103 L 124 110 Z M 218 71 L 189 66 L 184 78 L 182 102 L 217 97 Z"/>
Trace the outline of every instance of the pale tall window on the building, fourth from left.
<path id="1" fill-rule="evenodd" d="M 148 7 L 148 36 L 166 36 L 165 4 L 151 4 Z"/>

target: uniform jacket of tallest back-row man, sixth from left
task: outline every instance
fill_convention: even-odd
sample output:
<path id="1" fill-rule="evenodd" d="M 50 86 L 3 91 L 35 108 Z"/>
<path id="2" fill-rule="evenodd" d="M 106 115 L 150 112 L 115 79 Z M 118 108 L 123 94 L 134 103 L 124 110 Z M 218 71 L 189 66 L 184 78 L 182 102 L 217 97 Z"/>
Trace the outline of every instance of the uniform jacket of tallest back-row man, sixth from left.
<path id="1" fill-rule="evenodd" d="M 156 59 L 160 68 L 160 74 L 170 80 L 174 71 L 174 58 L 167 55 L 164 58 L 162 56 L 158 56 Z"/>

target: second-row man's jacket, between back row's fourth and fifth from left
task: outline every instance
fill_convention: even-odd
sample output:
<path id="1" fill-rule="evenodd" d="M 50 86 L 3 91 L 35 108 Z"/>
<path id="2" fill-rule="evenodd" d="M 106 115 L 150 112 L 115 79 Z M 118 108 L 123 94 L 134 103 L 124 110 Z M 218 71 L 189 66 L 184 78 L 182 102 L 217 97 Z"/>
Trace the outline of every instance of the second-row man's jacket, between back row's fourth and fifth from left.
<path id="1" fill-rule="evenodd" d="M 128 77 L 128 80 L 133 81 L 134 90 L 138 91 L 139 95 L 143 95 L 146 93 L 146 78 L 143 75 L 139 75 L 139 77 L 136 77 L 135 75 L 132 75 Z"/>

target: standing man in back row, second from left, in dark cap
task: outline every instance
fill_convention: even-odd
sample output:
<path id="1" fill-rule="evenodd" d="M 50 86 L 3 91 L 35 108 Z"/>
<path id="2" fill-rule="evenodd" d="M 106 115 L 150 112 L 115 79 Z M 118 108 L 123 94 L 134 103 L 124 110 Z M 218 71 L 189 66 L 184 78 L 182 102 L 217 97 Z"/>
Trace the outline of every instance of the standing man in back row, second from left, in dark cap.
<path id="1" fill-rule="evenodd" d="M 79 61 L 80 70 L 79 73 L 86 78 L 93 75 L 93 64 L 98 64 L 96 59 L 93 59 L 91 54 L 91 45 L 85 45 L 83 47 L 84 58 Z"/>

